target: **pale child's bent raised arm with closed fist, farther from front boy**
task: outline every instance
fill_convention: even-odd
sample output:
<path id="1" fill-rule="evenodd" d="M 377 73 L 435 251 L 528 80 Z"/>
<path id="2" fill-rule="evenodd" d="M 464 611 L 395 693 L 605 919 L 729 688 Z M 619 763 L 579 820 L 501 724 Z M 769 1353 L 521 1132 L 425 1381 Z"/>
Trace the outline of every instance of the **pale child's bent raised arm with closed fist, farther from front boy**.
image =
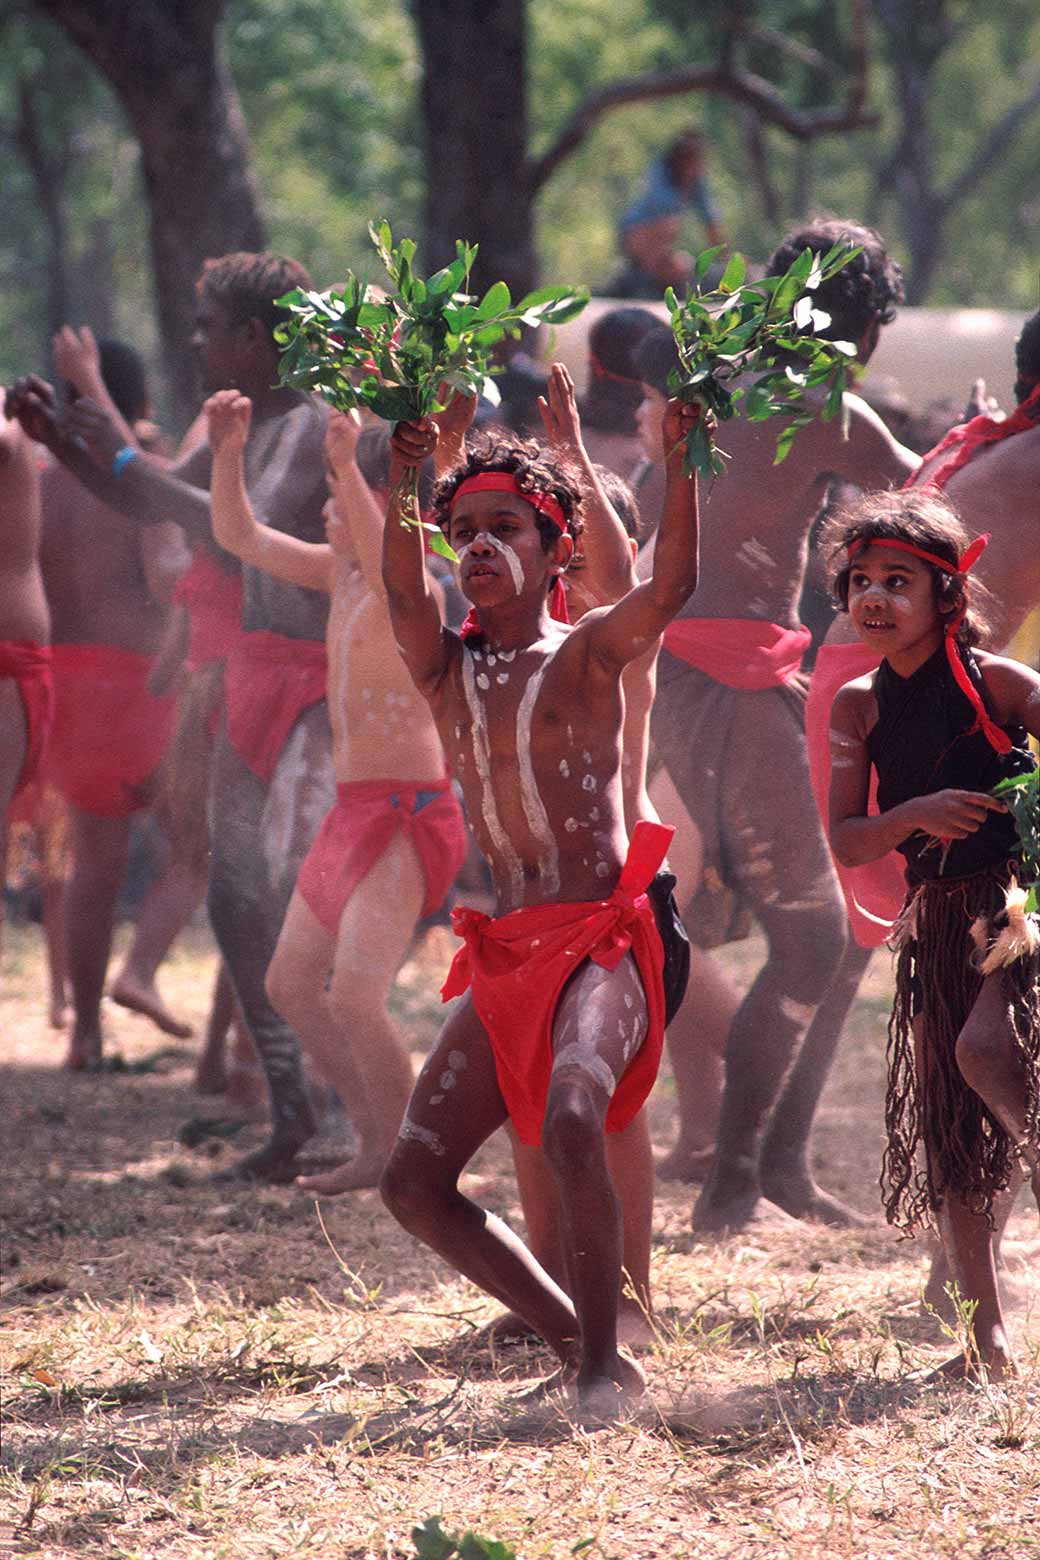
<path id="1" fill-rule="evenodd" d="M 290 585 L 329 591 L 332 549 L 326 543 L 301 541 L 271 530 L 256 518 L 242 463 L 253 417 L 249 399 L 237 390 L 218 390 L 206 402 L 206 417 L 214 457 L 214 537 L 220 546 Z"/>

